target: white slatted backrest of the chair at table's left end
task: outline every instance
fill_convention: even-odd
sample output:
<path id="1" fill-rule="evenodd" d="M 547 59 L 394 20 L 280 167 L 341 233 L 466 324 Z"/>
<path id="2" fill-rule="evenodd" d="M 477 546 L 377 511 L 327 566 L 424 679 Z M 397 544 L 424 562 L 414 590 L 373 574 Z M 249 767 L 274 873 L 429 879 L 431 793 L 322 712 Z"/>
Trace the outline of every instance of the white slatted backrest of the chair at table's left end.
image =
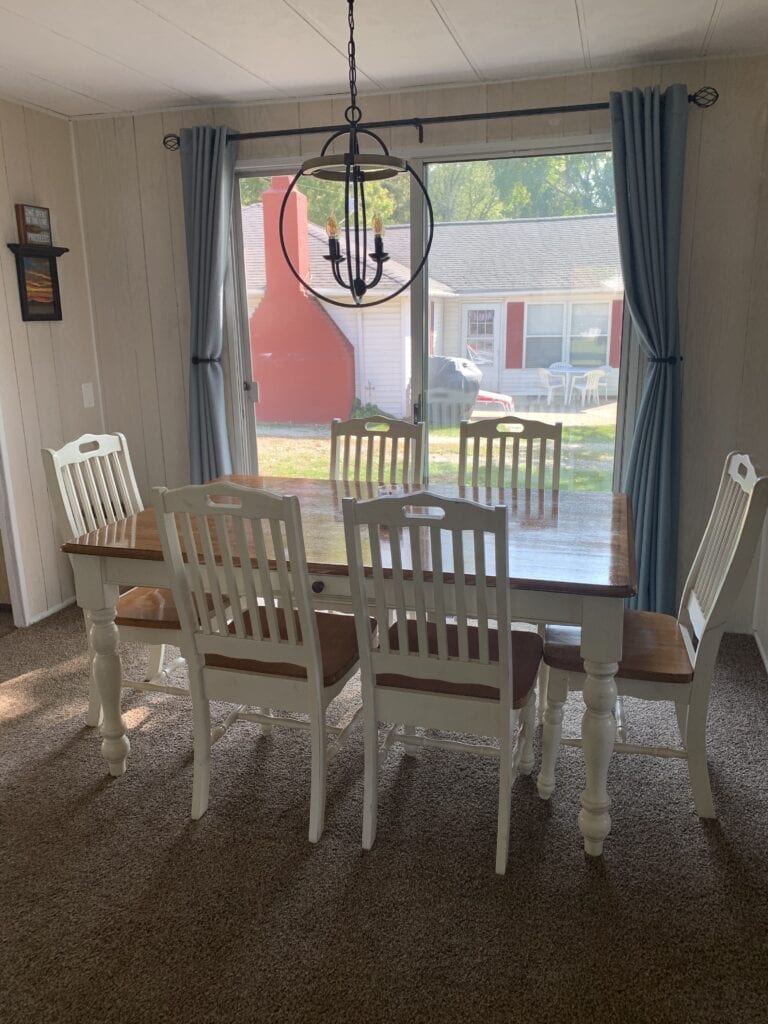
<path id="1" fill-rule="evenodd" d="M 61 541 L 143 509 L 123 434 L 83 434 L 42 457 Z"/>

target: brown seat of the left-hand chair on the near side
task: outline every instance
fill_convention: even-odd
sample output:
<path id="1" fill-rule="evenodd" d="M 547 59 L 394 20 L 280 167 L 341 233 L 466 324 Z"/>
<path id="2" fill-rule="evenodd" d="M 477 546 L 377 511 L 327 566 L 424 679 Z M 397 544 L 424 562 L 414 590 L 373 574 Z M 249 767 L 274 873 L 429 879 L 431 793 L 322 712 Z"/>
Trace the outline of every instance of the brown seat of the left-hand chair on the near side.
<path id="1" fill-rule="evenodd" d="M 275 609 L 278 629 L 283 640 L 288 639 L 286 613 L 283 608 Z M 328 611 L 315 611 L 317 635 L 323 663 L 323 683 L 334 686 L 346 675 L 357 660 L 357 635 L 352 615 L 336 615 Z M 268 634 L 266 609 L 259 608 L 262 635 Z M 302 640 L 299 615 L 294 610 L 296 632 L 299 642 Z M 253 627 L 250 612 L 243 613 L 246 635 L 253 637 Z M 372 631 L 376 629 L 376 620 L 371 620 Z M 234 624 L 229 627 L 234 634 Z M 290 679 L 306 679 L 306 667 L 292 665 L 290 662 L 259 662 L 252 658 L 229 657 L 224 654 L 206 654 L 205 664 L 211 669 L 234 669 L 238 672 L 256 672 L 265 676 L 287 676 Z"/>

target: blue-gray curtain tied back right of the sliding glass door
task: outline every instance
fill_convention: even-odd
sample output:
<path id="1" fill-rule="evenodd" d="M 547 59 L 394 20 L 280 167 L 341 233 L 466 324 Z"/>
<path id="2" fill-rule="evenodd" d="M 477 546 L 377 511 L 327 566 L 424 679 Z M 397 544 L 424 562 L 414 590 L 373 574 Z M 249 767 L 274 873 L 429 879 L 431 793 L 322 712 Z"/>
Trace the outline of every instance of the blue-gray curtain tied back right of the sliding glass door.
<path id="1" fill-rule="evenodd" d="M 648 357 L 624 481 L 632 499 L 638 567 L 631 603 L 674 612 L 681 406 L 677 281 L 687 89 L 612 92 L 610 117 L 624 287 Z"/>

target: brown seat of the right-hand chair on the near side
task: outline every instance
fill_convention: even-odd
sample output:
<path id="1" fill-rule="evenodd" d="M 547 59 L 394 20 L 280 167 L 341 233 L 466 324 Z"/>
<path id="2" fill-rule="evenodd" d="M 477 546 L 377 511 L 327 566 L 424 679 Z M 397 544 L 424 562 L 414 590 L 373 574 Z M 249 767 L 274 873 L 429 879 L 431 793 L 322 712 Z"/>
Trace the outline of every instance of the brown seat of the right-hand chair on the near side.
<path id="1" fill-rule="evenodd" d="M 410 618 L 406 624 L 408 629 L 409 650 L 418 652 L 419 638 L 418 627 L 415 620 Z M 434 623 L 427 623 L 427 645 L 430 653 L 437 654 L 437 628 Z M 446 625 L 447 649 L 452 657 L 459 656 L 459 631 L 454 625 Z M 477 627 L 470 626 L 467 631 L 467 643 L 469 656 L 479 657 L 479 631 Z M 399 640 L 397 637 L 397 626 L 392 626 L 389 630 L 389 646 L 393 650 L 399 650 Z M 499 633 L 497 630 L 488 631 L 488 654 L 492 660 L 499 658 Z M 512 674 L 513 692 L 512 707 L 519 709 L 525 705 L 528 694 L 536 682 L 539 672 L 539 665 L 542 659 L 542 638 L 538 633 L 525 633 L 522 630 L 512 630 L 512 664 L 514 671 Z M 462 697 L 484 697 L 487 700 L 498 700 L 499 690 L 494 686 L 472 686 L 462 683 L 452 683 L 444 679 L 416 679 L 411 676 L 398 676 L 391 674 L 377 675 L 377 686 L 393 686 L 398 689 L 421 690 L 428 693 L 451 693 Z"/>

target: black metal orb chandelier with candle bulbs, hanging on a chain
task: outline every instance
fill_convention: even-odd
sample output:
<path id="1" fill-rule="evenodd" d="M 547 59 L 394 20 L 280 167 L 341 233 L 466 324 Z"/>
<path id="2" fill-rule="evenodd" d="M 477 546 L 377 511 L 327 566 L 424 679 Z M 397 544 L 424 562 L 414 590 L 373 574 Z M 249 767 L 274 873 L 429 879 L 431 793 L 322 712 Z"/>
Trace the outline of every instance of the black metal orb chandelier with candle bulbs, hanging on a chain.
<path id="1" fill-rule="evenodd" d="M 349 22 L 349 43 L 347 45 L 347 56 L 349 60 L 349 105 L 344 111 L 346 128 L 334 132 L 321 150 L 318 157 L 306 160 L 291 181 L 291 184 L 283 198 L 283 205 L 280 211 L 280 244 L 283 255 L 294 275 L 298 278 L 304 288 L 322 299 L 335 306 L 350 305 L 355 306 L 378 306 L 382 302 L 393 299 L 396 295 L 404 292 L 416 278 L 418 278 L 424 264 L 427 261 L 429 250 L 432 246 L 434 234 L 434 217 L 432 214 L 432 204 L 429 201 L 427 189 L 407 160 L 399 157 L 392 157 L 389 154 L 383 139 L 368 128 L 360 127 L 362 112 L 357 105 L 357 68 L 354 52 L 354 0 L 347 0 L 348 22 Z M 360 136 L 367 136 L 366 141 L 373 139 L 380 146 L 379 153 L 361 153 L 359 148 Z M 333 143 L 342 137 L 346 137 L 346 151 L 342 155 L 329 155 L 328 151 Z M 366 182 L 381 181 L 384 178 L 392 178 L 397 174 L 409 174 L 416 182 L 424 197 L 426 209 L 426 230 L 424 254 L 414 269 L 409 280 L 400 285 L 395 291 L 373 299 L 366 299 L 366 296 L 373 291 L 380 283 L 384 269 L 384 264 L 389 259 L 389 254 L 384 250 L 384 221 L 381 215 L 370 209 L 370 204 L 366 203 Z M 332 298 L 314 289 L 308 281 L 304 281 L 296 269 L 291 256 L 286 247 L 284 237 L 284 222 L 288 201 L 297 188 L 302 178 L 318 178 L 322 181 L 343 182 L 343 195 L 340 190 L 340 204 L 343 203 L 343 218 L 340 224 L 333 212 L 329 212 L 326 221 L 326 231 L 328 233 L 328 254 L 323 258 L 327 260 L 333 271 L 336 284 L 349 293 L 352 302 L 342 302 Z M 369 222 L 370 218 L 370 222 Z M 373 252 L 369 252 L 373 233 Z"/>

